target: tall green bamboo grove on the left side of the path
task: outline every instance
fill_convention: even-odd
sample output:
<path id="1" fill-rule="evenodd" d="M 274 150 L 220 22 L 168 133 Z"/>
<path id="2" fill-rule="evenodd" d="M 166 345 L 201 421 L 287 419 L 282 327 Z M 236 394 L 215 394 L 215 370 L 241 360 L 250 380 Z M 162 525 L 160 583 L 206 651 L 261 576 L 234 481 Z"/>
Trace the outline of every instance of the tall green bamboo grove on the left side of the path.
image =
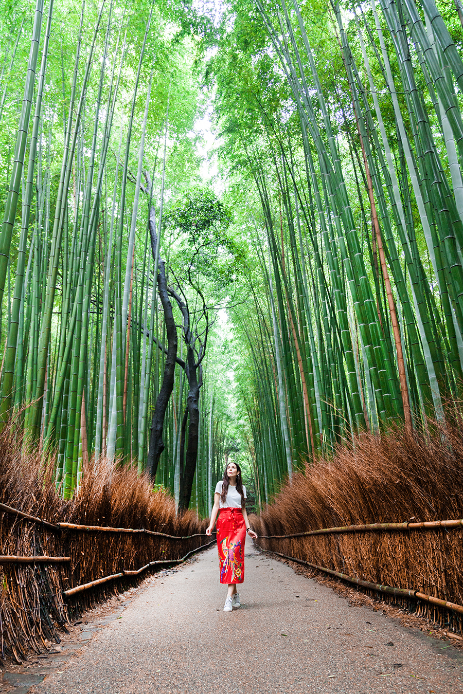
<path id="1" fill-rule="evenodd" d="M 100 459 L 146 468 L 166 359 L 156 278 L 161 254 L 175 255 L 162 209 L 166 194 L 201 183 L 187 133 L 208 20 L 195 24 L 186 6 L 129 12 L 106 0 L 78 10 L 37 0 L 2 17 L 0 418 L 17 418 L 24 444 L 53 454 L 56 489 L 69 498 Z M 188 289 L 178 291 L 187 305 Z M 200 319 L 192 306 L 196 328 Z M 184 507 L 207 514 L 226 434 L 207 378 L 214 364 L 206 357 L 200 368 L 198 463 Z M 177 502 L 189 393 L 180 371 L 155 478 Z"/>

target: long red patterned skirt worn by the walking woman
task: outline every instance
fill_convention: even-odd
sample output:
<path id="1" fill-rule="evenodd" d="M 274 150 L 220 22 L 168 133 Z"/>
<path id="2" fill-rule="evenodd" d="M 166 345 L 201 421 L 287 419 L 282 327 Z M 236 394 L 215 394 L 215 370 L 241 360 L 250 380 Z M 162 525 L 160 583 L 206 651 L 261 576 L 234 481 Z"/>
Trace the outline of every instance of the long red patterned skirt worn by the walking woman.
<path id="1" fill-rule="evenodd" d="M 241 509 L 220 509 L 217 518 L 220 582 L 244 581 L 244 541 L 246 525 Z"/>

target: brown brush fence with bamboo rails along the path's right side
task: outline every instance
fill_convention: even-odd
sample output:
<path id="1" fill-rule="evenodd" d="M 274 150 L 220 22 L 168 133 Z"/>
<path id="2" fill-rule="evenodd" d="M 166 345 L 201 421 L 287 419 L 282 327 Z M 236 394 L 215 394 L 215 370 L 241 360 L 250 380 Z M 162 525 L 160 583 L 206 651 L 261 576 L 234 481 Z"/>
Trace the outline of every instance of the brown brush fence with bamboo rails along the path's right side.
<path id="1" fill-rule="evenodd" d="M 462 525 L 420 527 L 461 518 L 463 430 L 449 425 L 432 437 L 398 430 L 355 437 L 333 459 L 294 475 L 252 523 L 262 549 L 364 582 L 360 589 L 376 598 L 462 633 Z M 373 523 L 405 527 L 345 528 Z M 326 528 L 337 531 L 288 537 Z"/>

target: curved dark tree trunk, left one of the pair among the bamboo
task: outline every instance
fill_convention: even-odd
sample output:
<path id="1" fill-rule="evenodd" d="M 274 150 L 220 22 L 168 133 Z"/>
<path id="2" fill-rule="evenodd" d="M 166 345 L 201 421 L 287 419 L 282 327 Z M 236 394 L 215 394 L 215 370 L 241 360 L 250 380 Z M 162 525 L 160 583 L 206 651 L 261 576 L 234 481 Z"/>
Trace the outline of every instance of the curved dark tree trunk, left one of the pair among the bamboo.
<path id="1" fill-rule="evenodd" d="M 155 260 L 157 236 L 153 208 L 151 208 L 149 215 L 149 231 L 151 235 L 151 250 Z M 165 443 L 162 440 L 162 430 L 164 428 L 164 418 L 167 405 L 169 404 L 169 398 L 174 389 L 174 373 L 178 343 L 177 328 L 174 321 L 174 314 L 172 312 L 172 305 L 170 303 L 169 295 L 167 294 L 165 262 L 161 259 L 159 259 L 158 264 L 158 289 L 166 323 L 167 357 L 164 366 L 164 377 L 162 378 L 161 389 L 159 391 L 158 399 L 156 400 L 153 420 L 151 421 L 149 451 L 148 459 L 146 461 L 146 468 L 149 471 L 149 476 L 153 482 L 155 480 L 156 471 L 158 470 L 161 453 L 165 449 Z"/>

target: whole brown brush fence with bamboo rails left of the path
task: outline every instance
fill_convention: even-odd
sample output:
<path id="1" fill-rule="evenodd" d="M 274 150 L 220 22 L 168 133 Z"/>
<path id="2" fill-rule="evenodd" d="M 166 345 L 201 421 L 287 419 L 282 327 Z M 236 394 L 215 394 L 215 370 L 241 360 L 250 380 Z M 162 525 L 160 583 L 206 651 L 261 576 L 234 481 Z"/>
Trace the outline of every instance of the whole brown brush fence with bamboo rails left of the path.
<path id="1" fill-rule="evenodd" d="M 153 493 L 131 466 L 102 462 L 86 471 L 69 501 L 52 477 L 38 455 L 22 454 L 11 430 L 1 434 L 0 503 L 37 519 L 0 507 L 1 659 L 41 652 L 83 609 L 140 581 L 152 562 L 172 563 L 210 542 L 208 521 L 194 511 L 177 517 L 174 500 Z"/>

